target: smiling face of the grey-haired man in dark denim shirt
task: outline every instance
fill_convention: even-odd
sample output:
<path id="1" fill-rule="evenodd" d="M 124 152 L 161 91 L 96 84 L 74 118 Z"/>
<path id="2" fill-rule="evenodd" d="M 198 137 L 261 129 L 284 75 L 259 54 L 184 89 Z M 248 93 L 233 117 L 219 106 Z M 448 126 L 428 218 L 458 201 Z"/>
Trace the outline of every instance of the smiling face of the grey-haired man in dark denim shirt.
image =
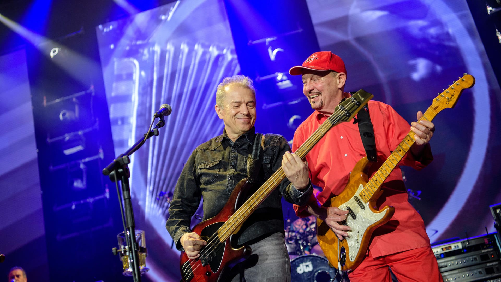
<path id="1" fill-rule="evenodd" d="M 224 90 L 226 95 L 221 105 L 215 105 L 215 110 L 224 122 L 226 134 L 234 142 L 256 122 L 256 97 L 252 90 L 236 84 L 226 85 Z"/>

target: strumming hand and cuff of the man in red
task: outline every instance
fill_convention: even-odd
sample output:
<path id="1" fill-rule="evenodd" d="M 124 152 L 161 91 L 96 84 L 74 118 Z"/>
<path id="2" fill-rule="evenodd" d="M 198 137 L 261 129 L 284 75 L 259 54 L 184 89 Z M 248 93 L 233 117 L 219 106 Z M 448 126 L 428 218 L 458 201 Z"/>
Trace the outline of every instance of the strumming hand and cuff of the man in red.
<path id="1" fill-rule="evenodd" d="M 351 230 L 351 227 L 343 224 L 348 211 L 337 207 L 327 208 L 317 202 L 317 205 L 311 204 L 308 206 L 308 212 L 327 223 L 336 236 L 338 236 L 339 240 L 343 240 L 343 236 L 348 236 L 346 231 Z"/>

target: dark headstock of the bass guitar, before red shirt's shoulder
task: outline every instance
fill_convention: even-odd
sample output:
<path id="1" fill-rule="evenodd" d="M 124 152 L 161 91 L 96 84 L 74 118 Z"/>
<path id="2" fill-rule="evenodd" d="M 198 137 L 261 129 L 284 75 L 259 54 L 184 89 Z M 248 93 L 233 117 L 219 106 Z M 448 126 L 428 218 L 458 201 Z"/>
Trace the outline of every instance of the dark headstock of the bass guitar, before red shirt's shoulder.
<path id="1" fill-rule="evenodd" d="M 358 90 L 350 98 L 346 98 L 336 107 L 334 113 L 327 119 L 333 125 L 352 119 L 358 111 L 372 99 L 374 95 L 365 92 L 364 89 Z"/>

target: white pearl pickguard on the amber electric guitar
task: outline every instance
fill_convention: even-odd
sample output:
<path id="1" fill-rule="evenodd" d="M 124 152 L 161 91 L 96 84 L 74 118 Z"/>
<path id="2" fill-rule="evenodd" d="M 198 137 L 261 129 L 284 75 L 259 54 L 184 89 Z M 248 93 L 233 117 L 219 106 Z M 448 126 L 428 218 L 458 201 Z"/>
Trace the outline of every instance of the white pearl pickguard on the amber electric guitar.
<path id="1" fill-rule="evenodd" d="M 348 237 L 345 237 L 346 244 L 348 245 L 348 250 L 346 252 L 347 252 L 347 258 L 349 258 L 351 261 L 354 261 L 355 258 L 359 255 L 360 244 L 362 243 L 362 236 L 364 236 L 364 233 L 367 231 L 367 228 L 370 225 L 381 220 L 386 214 L 386 210 L 380 213 L 372 212 L 371 209 L 369 208 L 369 204 L 364 203 L 362 201 L 362 198 L 359 196 L 359 194 L 362 192 L 363 188 L 364 188 L 363 185 L 360 184 L 357 192 L 354 194 L 354 197 L 352 197 L 350 200 L 339 206 L 339 208 L 342 210 L 347 210 L 348 207 L 350 207 L 351 211 L 356 216 L 356 219 L 354 219 L 351 216 L 351 212 L 348 213 L 346 216 L 346 225 L 351 227 L 351 230 L 347 231 Z M 360 205 L 357 203 L 357 201 L 355 200 L 355 196 L 357 196 L 360 199 L 359 203 L 363 205 L 364 209 L 362 209 Z"/>

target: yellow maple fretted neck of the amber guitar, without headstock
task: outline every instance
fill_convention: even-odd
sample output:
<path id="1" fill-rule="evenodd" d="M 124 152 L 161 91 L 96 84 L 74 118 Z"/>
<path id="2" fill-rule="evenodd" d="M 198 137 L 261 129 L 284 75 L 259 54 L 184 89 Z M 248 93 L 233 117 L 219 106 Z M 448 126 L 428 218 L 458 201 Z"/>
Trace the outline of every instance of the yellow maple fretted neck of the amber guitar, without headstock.
<path id="1" fill-rule="evenodd" d="M 432 121 L 433 118 L 437 115 L 432 108 L 432 106 L 428 107 L 423 116 L 418 120 L 428 120 Z M 379 170 L 376 171 L 374 176 L 367 182 L 364 189 L 360 193 L 360 198 L 365 202 L 369 202 L 371 197 L 376 194 L 381 188 L 383 182 L 388 178 L 390 173 L 398 166 L 398 163 L 403 159 L 405 154 L 409 151 L 411 146 L 416 142 L 414 139 L 414 131 L 410 130 L 409 133 L 405 136 L 405 138 L 400 142 L 395 151 L 391 153 L 391 155 L 386 159 L 386 161 L 381 165 Z"/>

